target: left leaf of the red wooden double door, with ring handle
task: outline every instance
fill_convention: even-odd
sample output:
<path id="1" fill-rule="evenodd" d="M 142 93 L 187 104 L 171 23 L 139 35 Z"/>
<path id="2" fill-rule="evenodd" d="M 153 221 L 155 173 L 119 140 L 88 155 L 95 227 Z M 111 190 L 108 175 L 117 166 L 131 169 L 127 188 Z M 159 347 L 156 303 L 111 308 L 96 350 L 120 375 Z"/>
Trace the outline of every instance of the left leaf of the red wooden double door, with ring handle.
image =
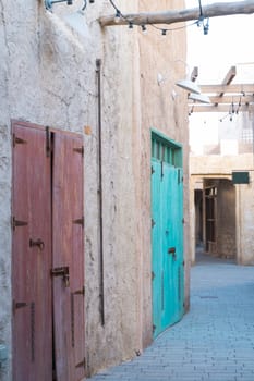
<path id="1" fill-rule="evenodd" d="M 15 381 L 52 379 L 50 160 L 45 131 L 13 124 L 13 349 Z"/>

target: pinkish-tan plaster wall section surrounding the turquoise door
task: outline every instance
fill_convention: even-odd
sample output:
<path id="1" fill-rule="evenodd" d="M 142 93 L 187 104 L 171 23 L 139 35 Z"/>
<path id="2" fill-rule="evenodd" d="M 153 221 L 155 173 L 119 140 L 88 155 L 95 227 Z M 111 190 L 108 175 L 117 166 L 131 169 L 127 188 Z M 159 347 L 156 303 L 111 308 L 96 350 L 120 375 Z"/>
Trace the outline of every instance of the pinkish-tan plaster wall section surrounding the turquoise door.
<path id="1" fill-rule="evenodd" d="M 140 10 L 159 11 L 167 9 L 182 9 L 184 1 L 148 1 L 141 0 Z M 180 25 L 178 25 L 180 26 Z M 185 29 L 168 32 L 167 37 L 148 27 L 147 35 L 140 34 L 141 53 L 141 91 L 142 91 L 142 173 L 145 181 L 142 182 L 142 195 L 144 229 L 150 230 L 150 190 L 147 186 L 150 182 L 150 128 L 164 133 L 168 138 L 183 145 L 183 184 L 184 184 L 184 258 L 185 258 L 185 307 L 189 308 L 189 269 L 190 269 L 190 220 L 189 220 L 189 121 L 186 108 L 186 93 L 174 84 L 185 77 L 188 67 L 185 63 Z M 158 74 L 164 81 L 158 85 Z M 150 236 L 143 236 L 144 247 L 148 247 Z M 150 263 L 145 263 L 146 278 L 150 274 Z M 145 291 L 147 292 L 147 291 Z M 144 298 L 149 308 L 149 295 Z M 146 317 L 144 317 L 146 318 Z M 148 316 L 147 316 L 148 318 Z M 147 321 L 148 323 L 148 321 Z M 147 324 L 144 324 L 146 327 Z M 148 337 L 144 332 L 144 342 Z"/>

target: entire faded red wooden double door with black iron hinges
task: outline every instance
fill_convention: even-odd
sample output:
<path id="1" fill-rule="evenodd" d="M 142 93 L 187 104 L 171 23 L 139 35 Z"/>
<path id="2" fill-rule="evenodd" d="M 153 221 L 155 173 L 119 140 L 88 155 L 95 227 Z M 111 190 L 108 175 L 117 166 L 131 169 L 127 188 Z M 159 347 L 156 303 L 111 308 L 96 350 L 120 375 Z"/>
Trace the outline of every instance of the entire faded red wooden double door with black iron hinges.
<path id="1" fill-rule="evenodd" d="M 13 147 L 13 380 L 80 381 L 82 137 L 14 122 Z"/>

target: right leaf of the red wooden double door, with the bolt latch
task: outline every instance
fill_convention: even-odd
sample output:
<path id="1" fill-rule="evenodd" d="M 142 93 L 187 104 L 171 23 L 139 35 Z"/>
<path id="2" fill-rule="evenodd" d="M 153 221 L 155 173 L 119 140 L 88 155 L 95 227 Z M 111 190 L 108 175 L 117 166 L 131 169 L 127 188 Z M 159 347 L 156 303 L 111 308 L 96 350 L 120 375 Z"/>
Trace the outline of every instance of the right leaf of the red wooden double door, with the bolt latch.
<path id="1" fill-rule="evenodd" d="M 55 134 L 52 168 L 56 374 L 58 381 L 80 381 L 85 372 L 82 137 Z"/>

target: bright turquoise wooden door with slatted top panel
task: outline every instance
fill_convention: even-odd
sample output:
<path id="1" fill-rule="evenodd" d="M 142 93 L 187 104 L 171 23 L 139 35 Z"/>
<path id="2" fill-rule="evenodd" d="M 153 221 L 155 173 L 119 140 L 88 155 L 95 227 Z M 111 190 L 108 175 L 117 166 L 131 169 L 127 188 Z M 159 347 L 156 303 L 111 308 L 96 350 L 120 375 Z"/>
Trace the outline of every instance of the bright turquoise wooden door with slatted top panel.
<path id="1" fill-rule="evenodd" d="M 153 137 L 153 148 L 157 148 L 152 158 L 152 278 L 157 336 L 183 315 L 183 183 L 182 168 L 178 167 L 181 156 L 173 155 L 181 148 Z"/>

